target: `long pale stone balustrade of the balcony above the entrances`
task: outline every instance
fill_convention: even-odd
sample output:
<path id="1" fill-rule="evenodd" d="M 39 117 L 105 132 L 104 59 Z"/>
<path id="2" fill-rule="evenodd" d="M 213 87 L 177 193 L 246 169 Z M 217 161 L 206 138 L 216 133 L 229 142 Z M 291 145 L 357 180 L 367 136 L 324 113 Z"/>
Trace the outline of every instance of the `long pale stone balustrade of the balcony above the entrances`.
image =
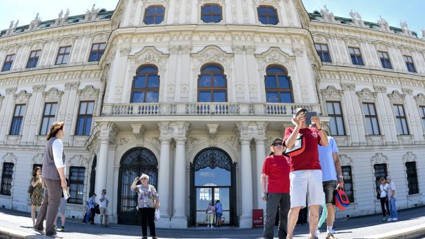
<path id="1" fill-rule="evenodd" d="M 319 112 L 319 104 L 294 103 L 128 103 L 104 104 L 102 116 L 292 116 L 296 108 Z"/>

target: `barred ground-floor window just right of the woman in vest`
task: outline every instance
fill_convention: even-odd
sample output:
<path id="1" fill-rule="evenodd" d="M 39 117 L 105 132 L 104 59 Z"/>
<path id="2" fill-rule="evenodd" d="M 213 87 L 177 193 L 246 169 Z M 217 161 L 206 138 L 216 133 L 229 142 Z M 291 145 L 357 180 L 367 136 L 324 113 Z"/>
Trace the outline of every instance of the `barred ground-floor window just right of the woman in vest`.
<path id="1" fill-rule="evenodd" d="M 69 203 L 83 204 L 85 167 L 70 167 L 70 198 Z"/>

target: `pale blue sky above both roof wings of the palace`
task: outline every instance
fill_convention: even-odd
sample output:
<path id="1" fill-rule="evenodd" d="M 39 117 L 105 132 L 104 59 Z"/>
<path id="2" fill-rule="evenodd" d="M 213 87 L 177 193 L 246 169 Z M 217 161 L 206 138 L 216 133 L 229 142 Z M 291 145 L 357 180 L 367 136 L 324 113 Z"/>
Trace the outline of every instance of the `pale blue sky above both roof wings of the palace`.
<path id="1" fill-rule="evenodd" d="M 0 0 L 0 29 L 7 29 L 10 21 L 16 19 L 19 25 L 27 25 L 37 12 L 42 20 L 56 19 L 61 9 L 66 12 L 66 8 L 70 9 L 70 16 L 84 14 L 94 3 L 96 8 L 114 10 L 118 0 Z M 364 21 L 376 22 L 379 15 L 395 27 L 399 27 L 400 21 L 407 21 L 409 29 L 419 35 L 419 29 L 425 28 L 423 0 L 303 0 L 303 3 L 308 12 L 326 4 L 339 17 L 349 17 L 348 12 L 354 10 Z"/>

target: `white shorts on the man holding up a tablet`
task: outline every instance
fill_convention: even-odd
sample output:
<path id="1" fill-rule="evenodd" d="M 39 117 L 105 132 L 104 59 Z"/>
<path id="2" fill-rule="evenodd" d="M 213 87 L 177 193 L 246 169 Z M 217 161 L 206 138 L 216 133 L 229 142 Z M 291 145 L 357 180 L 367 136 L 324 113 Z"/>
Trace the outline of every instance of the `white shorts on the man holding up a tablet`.
<path id="1" fill-rule="evenodd" d="M 322 185 L 322 170 L 297 170 L 290 172 L 290 208 L 322 205 L 325 195 Z"/>

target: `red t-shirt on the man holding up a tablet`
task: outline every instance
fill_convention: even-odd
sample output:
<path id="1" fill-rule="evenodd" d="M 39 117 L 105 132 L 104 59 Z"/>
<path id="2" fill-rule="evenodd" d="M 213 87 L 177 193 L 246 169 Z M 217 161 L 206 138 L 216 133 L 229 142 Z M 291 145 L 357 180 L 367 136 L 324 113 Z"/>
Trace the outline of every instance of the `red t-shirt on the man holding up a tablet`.
<path id="1" fill-rule="evenodd" d="M 294 131 L 294 127 L 285 129 L 284 141 Z M 297 170 L 322 169 L 319 163 L 319 150 L 317 145 L 320 144 L 320 134 L 316 128 L 299 129 L 299 134 L 306 138 L 306 149 L 302 154 L 290 158 L 290 172 Z"/>

